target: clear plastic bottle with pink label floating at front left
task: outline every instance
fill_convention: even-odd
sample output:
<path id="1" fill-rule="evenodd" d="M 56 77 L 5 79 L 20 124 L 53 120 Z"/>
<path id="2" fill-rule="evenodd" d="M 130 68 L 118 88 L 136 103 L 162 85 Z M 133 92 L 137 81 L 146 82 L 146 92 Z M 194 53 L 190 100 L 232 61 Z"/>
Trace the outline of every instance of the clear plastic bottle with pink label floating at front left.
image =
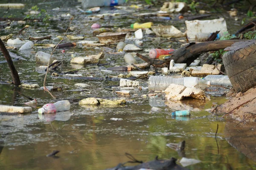
<path id="1" fill-rule="evenodd" d="M 70 102 L 68 100 L 61 100 L 55 103 L 45 104 L 42 108 L 38 109 L 38 113 L 55 113 L 59 111 L 70 110 Z"/>

